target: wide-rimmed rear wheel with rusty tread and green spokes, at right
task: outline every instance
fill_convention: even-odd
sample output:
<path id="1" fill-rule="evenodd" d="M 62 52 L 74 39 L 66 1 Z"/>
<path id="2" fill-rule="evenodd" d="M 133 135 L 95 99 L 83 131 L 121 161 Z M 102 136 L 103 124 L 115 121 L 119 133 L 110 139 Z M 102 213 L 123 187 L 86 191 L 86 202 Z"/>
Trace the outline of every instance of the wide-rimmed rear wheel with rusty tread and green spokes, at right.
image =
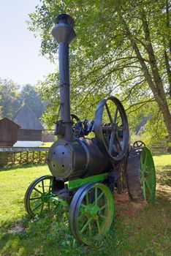
<path id="1" fill-rule="evenodd" d="M 156 193 L 156 173 L 148 148 L 132 148 L 126 171 L 129 197 L 153 203 Z"/>

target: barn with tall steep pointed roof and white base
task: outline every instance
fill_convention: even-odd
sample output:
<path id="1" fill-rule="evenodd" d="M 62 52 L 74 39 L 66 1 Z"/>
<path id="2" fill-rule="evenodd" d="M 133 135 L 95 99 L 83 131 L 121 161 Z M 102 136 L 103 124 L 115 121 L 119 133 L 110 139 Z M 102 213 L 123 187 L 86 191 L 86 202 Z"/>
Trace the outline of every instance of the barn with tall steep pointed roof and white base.
<path id="1" fill-rule="evenodd" d="M 18 142 L 15 146 L 40 146 L 42 144 L 44 127 L 28 105 L 23 105 L 13 121 L 21 127 L 18 130 Z"/>

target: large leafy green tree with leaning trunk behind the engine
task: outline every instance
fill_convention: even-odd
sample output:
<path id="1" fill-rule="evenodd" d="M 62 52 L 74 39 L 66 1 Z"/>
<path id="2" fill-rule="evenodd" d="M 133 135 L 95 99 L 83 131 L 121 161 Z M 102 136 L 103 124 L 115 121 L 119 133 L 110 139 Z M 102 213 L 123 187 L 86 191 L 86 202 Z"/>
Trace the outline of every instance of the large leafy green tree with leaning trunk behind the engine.
<path id="1" fill-rule="evenodd" d="M 76 21 L 70 58 L 72 108 L 92 113 L 96 102 L 110 94 L 119 94 L 129 115 L 156 102 L 171 140 L 169 1 L 41 1 L 30 15 L 29 28 L 42 38 L 42 54 L 53 61 L 58 46 L 50 30 L 61 12 Z"/>

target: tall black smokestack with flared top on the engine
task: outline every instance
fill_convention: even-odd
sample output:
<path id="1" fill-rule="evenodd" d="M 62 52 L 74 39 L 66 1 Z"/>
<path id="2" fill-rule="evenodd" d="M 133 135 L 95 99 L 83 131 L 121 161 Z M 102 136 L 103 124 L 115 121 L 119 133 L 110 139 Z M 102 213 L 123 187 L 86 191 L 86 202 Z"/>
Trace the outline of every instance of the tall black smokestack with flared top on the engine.
<path id="1" fill-rule="evenodd" d="M 69 43 L 75 38 L 75 21 L 66 14 L 58 15 L 52 35 L 58 42 L 59 86 L 61 120 L 64 124 L 64 138 L 73 137 L 70 113 Z"/>

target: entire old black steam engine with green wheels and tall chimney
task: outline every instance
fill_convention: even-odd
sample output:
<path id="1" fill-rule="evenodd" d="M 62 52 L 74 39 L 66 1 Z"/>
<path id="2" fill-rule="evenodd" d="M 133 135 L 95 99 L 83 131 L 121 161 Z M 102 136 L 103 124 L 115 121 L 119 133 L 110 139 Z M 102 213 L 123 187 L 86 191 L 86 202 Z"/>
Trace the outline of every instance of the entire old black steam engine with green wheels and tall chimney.
<path id="1" fill-rule="evenodd" d="M 60 114 L 58 140 L 47 164 L 52 176 L 33 181 L 25 195 L 31 217 L 69 207 L 69 227 L 84 244 L 103 238 L 113 222 L 113 189 L 127 187 L 131 200 L 153 202 L 156 189 L 151 152 L 141 141 L 129 146 L 129 125 L 121 102 L 102 99 L 94 121 L 80 121 L 70 113 L 69 43 L 75 38 L 74 20 L 58 15 L 53 37 L 58 42 Z M 94 132 L 94 138 L 86 138 Z"/>

